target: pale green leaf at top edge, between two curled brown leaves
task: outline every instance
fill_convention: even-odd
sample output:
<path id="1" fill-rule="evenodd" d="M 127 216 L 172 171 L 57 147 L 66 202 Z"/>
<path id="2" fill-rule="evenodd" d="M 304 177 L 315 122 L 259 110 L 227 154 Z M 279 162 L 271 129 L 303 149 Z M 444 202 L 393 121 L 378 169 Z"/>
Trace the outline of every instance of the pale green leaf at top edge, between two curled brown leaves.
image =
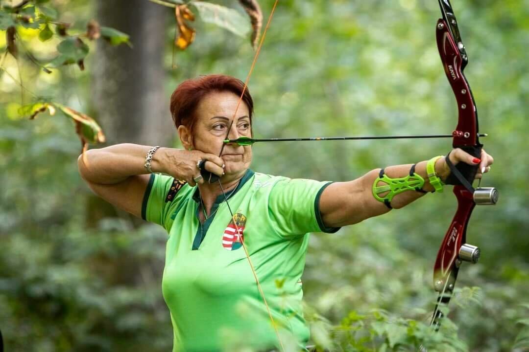
<path id="1" fill-rule="evenodd" d="M 241 37 L 246 36 L 250 31 L 247 18 L 233 8 L 202 1 L 195 1 L 190 5 L 196 7 L 204 22 L 216 24 Z"/>

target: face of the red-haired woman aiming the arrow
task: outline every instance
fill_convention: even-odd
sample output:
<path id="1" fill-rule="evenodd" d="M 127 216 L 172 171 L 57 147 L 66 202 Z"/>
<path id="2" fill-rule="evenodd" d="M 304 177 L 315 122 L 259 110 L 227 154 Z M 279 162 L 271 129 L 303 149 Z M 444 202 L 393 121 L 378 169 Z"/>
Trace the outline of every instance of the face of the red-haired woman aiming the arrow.
<path id="1" fill-rule="evenodd" d="M 197 121 L 193 134 L 194 149 L 218 155 L 230 125 L 228 139 L 251 137 L 250 114 L 244 101 L 237 109 L 232 124 L 238 102 L 239 96 L 232 92 L 212 92 L 199 102 L 195 111 Z M 229 143 L 222 149 L 221 158 L 224 160 L 224 172 L 227 175 L 241 174 L 250 167 L 252 148 Z"/>

